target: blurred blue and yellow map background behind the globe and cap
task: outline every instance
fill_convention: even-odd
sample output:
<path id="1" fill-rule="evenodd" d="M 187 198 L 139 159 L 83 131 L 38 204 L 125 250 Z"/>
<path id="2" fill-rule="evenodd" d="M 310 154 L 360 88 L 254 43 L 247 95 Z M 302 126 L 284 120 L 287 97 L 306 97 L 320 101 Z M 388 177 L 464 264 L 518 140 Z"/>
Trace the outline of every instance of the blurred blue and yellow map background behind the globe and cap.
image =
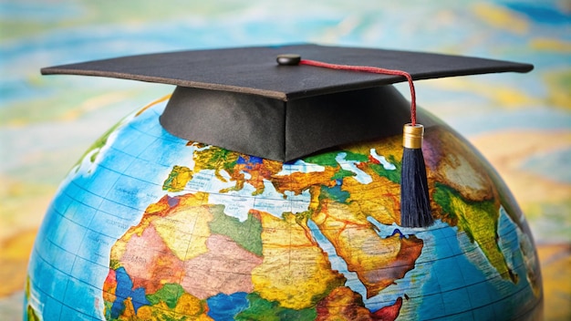
<path id="1" fill-rule="evenodd" d="M 571 319 L 570 0 L 0 0 L 0 319 L 22 316 L 27 258 L 59 181 L 119 119 L 173 89 L 40 67 L 303 42 L 535 65 L 418 81 L 417 96 L 510 186 L 538 244 L 546 319 Z"/>

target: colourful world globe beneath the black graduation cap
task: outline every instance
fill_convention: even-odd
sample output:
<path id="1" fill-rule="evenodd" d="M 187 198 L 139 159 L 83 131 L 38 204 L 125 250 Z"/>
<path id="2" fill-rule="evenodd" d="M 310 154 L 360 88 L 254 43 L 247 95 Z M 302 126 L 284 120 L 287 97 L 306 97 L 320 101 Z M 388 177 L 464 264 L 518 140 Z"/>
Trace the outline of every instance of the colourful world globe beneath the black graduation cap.
<path id="1" fill-rule="evenodd" d="M 400 135 L 271 161 L 172 136 L 167 100 L 121 120 L 61 184 L 25 319 L 541 318 L 522 212 L 441 121 L 423 146 L 435 223 L 405 228 Z"/>

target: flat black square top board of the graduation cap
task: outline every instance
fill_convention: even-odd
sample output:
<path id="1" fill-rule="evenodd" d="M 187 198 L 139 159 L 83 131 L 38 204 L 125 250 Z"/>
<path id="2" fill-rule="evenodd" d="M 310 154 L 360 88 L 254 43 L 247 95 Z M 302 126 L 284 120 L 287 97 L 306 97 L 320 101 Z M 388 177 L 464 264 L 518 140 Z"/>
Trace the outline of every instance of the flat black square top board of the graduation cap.
<path id="1" fill-rule="evenodd" d="M 117 57 L 85 63 L 46 67 L 42 74 L 69 74 L 126 78 L 254 94 L 291 100 L 328 93 L 372 88 L 405 81 L 400 76 L 341 71 L 323 67 L 278 66 L 280 54 L 332 64 L 404 70 L 415 80 L 453 76 L 528 72 L 532 65 L 421 52 L 358 47 L 294 45 L 179 51 Z"/>

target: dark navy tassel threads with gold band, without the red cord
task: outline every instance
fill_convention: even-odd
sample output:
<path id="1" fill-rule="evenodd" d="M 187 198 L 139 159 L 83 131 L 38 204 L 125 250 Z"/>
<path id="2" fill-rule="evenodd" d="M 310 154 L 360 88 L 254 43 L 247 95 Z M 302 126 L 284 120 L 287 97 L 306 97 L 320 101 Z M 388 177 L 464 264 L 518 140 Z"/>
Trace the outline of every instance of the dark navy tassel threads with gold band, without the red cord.
<path id="1" fill-rule="evenodd" d="M 404 150 L 400 174 L 400 225 L 405 227 L 428 227 L 434 223 L 426 166 L 421 149 L 423 135 L 422 125 L 404 125 L 402 136 Z"/>

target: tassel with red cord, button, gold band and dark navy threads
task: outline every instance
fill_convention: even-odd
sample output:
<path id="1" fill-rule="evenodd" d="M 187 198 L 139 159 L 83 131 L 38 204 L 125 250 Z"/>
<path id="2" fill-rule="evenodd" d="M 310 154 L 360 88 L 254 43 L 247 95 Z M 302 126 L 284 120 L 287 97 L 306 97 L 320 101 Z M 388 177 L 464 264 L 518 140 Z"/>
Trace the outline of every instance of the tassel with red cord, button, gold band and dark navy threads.
<path id="1" fill-rule="evenodd" d="M 426 166 L 422 156 L 424 127 L 416 123 L 416 93 L 410 74 L 403 70 L 368 66 L 329 64 L 322 61 L 302 59 L 299 55 L 280 55 L 277 63 L 282 66 L 307 65 L 340 70 L 370 72 L 402 76 L 410 87 L 410 124 L 404 125 L 402 166 L 400 173 L 400 225 L 405 227 L 428 227 L 434 223 L 431 200 L 426 179 Z"/>

